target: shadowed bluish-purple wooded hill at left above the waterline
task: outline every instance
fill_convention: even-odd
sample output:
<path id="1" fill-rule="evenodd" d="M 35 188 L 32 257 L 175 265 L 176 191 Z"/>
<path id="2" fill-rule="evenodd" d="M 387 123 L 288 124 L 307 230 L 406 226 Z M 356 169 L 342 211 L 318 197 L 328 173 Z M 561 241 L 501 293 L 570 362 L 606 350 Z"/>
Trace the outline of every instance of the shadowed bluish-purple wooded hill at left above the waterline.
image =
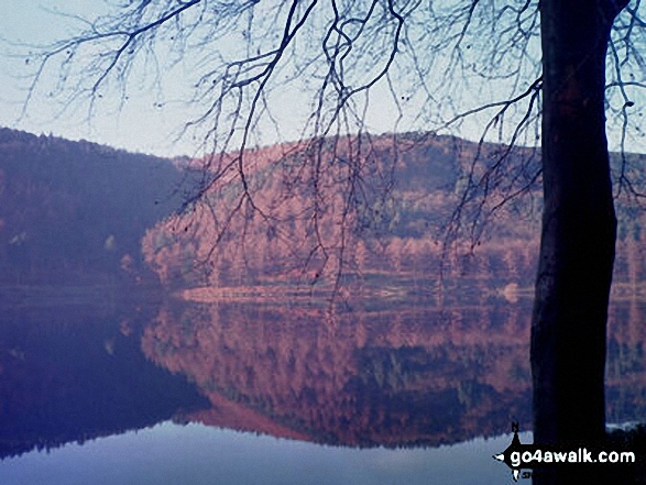
<path id="1" fill-rule="evenodd" d="M 167 159 L 0 129 L 0 285 L 156 282 L 141 239 L 180 178 Z"/>

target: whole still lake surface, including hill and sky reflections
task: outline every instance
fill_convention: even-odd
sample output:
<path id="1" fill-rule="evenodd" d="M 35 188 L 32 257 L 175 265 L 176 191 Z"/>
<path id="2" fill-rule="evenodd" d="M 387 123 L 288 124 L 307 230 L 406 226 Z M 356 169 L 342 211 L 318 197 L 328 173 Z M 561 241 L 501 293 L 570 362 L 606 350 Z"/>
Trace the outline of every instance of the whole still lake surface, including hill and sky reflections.
<path id="1" fill-rule="evenodd" d="M 523 301 L 128 301 L 3 305 L 1 484 L 511 482 Z M 611 311 L 611 422 L 646 418 L 642 311 Z"/>

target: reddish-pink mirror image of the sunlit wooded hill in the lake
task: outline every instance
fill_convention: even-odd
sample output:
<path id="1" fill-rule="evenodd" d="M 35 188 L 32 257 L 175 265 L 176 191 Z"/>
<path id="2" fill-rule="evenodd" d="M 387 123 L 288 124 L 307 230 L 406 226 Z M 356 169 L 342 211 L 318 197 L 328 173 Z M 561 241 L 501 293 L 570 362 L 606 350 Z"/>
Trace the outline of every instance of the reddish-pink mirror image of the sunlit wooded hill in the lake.
<path id="1" fill-rule="evenodd" d="M 330 321 L 310 308 L 187 305 L 163 310 L 142 342 L 211 399 L 213 410 L 191 419 L 336 444 L 436 445 L 508 431 L 512 419 L 529 426 L 528 313 L 403 309 Z M 609 370 L 628 365 L 620 341 Z M 611 418 L 644 416 L 644 399 L 622 390 L 643 386 L 634 371 L 609 377 Z"/>

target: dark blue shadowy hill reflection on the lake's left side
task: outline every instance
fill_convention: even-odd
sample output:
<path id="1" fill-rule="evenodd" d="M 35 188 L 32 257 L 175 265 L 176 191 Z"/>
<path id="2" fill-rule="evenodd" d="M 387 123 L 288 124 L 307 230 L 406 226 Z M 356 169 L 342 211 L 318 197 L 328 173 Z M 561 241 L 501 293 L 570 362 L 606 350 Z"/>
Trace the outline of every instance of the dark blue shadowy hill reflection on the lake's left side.
<path id="1" fill-rule="evenodd" d="M 145 360 L 136 322 L 145 316 L 122 310 L 0 307 L 0 459 L 205 406 L 185 378 Z"/>

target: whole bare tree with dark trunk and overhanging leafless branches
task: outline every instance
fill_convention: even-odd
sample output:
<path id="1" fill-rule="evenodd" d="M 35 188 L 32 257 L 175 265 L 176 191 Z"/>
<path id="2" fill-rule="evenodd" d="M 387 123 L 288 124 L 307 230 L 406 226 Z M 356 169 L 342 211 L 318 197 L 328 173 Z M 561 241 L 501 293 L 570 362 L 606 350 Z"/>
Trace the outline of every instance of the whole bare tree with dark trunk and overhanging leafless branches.
<path id="1" fill-rule="evenodd" d="M 340 251 L 339 269 L 342 241 L 318 236 L 324 187 L 336 181 L 348 195 L 339 202 L 341 222 L 370 206 L 365 180 L 376 162 L 361 153 L 371 123 L 390 117 L 396 142 L 404 129 L 440 133 L 475 120 L 481 142 L 497 137 L 506 148 L 467 169 L 450 228 L 478 236 L 482 220 L 543 181 L 532 324 L 535 441 L 595 440 L 605 426 L 613 197 L 640 196 L 625 164 L 613 183 L 606 119 L 623 152 L 639 132 L 628 114 L 646 87 L 642 13 L 640 0 L 122 2 L 107 15 L 73 19 L 78 35 L 33 51 L 25 112 L 45 89 L 62 111 L 86 102 L 91 118 L 109 95 L 125 103 L 133 86 L 149 79 L 163 87 L 165 69 L 190 63 L 194 115 L 183 133 L 199 133 L 211 153 L 190 202 L 237 187 L 218 214 L 217 242 L 237 217 L 253 212 L 276 222 L 258 197 L 245 153 L 262 130 L 281 139 L 289 113 L 280 104 L 292 99 L 298 111 L 296 99 L 309 112 L 297 144 L 307 156 L 289 175 L 313 200 L 304 211 L 317 234 L 311 252 L 328 261 Z M 54 85 L 46 81 L 52 69 Z M 538 143 L 540 164 L 512 156 L 514 146 Z M 325 153 L 336 154 L 331 163 Z"/>

